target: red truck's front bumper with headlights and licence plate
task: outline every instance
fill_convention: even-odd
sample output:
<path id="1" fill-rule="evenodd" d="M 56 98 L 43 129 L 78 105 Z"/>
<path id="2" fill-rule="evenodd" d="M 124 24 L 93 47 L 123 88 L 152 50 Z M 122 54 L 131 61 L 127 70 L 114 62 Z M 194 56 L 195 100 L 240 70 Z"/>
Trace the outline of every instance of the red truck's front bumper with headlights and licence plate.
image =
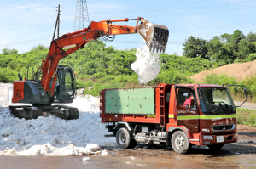
<path id="1" fill-rule="evenodd" d="M 201 145 L 228 144 L 237 142 L 237 132 L 225 134 L 200 134 Z"/>

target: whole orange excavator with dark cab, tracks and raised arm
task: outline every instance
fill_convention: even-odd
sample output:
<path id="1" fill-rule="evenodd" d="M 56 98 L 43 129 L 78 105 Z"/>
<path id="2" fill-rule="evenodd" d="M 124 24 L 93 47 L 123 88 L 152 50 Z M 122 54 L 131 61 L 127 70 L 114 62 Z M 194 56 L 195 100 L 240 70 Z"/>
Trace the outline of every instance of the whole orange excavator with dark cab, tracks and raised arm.
<path id="1" fill-rule="evenodd" d="M 136 25 L 113 25 L 113 22 L 129 20 L 137 20 Z M 12 114 L 25 119 L 38 118 L 41 115 L 56 115 L 67 120 L 78 119 L 77 108 L 63 105 L 72 103 L 75 97 L 73 69 L 68 65 L 59 65 L 59 61 L 99 37 L 111 40 L 115 35 L 132 33 L 139 33 L 153 52 L 165 52 L 169 35 L 167 27 L 150 23 L 141 17 L 92 21 L 88 28 L 53 40 L 42 67 L 38 68 L 32 79 L 23 79 L 19 73 L 19 81 L 14 82 L 12 103 L 32 105 L 10 105 Z"/>

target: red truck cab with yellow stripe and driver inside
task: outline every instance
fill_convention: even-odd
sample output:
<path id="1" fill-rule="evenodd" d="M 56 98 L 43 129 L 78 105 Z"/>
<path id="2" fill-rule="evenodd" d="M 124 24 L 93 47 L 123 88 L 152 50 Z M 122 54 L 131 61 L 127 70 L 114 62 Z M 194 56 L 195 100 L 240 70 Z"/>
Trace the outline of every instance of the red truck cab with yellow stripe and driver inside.
<path id="1" fill-rule="evenodd" d="M 167 131 L 179 128 L 186 133 L 189 144 L 207 145 L 210 149 L 220 149 L 226 143 L 237 141 L 235 104 L 228 88 L 174 85 L 172 92 L 175 102 L 169 104 L 172 110 Z M 189 98 L 192 98 L 191 105 L 185 104 Z M 178 140 L 172 142 L 177 144 Z"/>

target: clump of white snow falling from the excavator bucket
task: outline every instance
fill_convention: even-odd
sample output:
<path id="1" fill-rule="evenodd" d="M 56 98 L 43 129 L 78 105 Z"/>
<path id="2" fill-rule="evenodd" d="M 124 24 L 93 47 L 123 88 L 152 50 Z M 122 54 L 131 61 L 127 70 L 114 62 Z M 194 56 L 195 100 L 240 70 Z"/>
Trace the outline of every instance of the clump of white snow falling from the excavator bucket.
<path id="1" fill-rule="evenodd" d="M 154 80 L 160 72 L 159 54 L 149 51 L 147 46 L 137 48 L 137 60 L 131 64 L 131 69 L 137 73 L 140 84 Z"/>

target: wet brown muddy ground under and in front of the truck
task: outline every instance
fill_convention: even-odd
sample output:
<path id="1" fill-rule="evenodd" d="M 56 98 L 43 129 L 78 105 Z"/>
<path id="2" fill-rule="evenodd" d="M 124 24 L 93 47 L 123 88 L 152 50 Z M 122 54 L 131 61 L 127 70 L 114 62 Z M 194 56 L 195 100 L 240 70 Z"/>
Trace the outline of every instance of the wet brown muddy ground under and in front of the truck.
<path id="1" fill-rule="evenodd" d="M 136 149 L 107 148 L 109 155 L 90 156 L 0 156 L 0 168 L 256 168 L 256 127 L 238 125 L 239 141 L 219 151 L 193 146 L 186 155 L 172 148 L 137 146 Z M 83 161 L 90 157 L 90 161 Z"/>

